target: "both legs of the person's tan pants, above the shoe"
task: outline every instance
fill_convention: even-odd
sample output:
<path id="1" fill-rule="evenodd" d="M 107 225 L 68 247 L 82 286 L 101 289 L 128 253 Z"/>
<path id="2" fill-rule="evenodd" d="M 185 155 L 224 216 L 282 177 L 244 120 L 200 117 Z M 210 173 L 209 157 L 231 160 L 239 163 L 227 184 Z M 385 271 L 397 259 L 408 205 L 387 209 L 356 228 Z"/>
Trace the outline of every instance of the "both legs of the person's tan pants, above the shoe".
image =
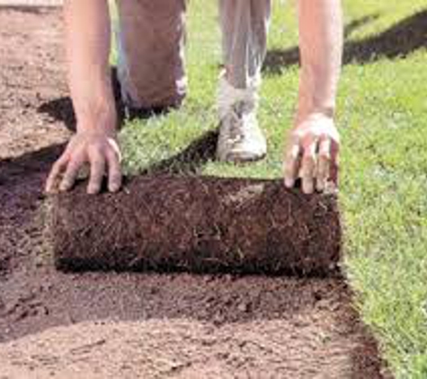
<path id="1" fill-rule="evenodd" d="M 117 4 L 123 100 L 135 108 L 179 104 L 187 86 L 187 0 L 118 0 Z M 218 0 L 218 5 L 228 82 L 246 88 L 261 72 L 271 0 Z"/>

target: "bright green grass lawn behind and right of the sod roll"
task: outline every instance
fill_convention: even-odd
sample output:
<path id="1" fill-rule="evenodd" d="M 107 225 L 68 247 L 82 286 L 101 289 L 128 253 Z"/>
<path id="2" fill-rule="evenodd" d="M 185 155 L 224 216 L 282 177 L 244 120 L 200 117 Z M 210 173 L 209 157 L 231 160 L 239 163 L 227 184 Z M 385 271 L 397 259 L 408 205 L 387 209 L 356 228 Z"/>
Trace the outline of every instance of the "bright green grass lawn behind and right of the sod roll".
<path id="1" fill-rule="evenodd" d="M 221 54 L 215 3 L 190 4 L 191 91 L 183 108 L 129 122 L 121 132 L 128 172 L 152 170 L 218 126 L 214 99 Z M 338 123 L 344 269 L 357 293 L 355 306 L 396 377 L 427 378 L 427 0 L 343 4 L 348 48 Z M 274 2 L 270 35 L 271 51 L 283 64 L 266 69 L 262 86 L 259 116 L 269 138 L 267 159 L 236 167 L 207 156 L 191 172 L 280 177 L 283 137 L 298 88 L 298 66 L 286 59 L 298 39 L 295 8 L 287 5 Z M 367 51 L 376 57 L 368 61 Z M 409 54 L 402 58 L 399 51 Z M 188 165 L 178 159 L 166 170 L 188 172 Z"/>

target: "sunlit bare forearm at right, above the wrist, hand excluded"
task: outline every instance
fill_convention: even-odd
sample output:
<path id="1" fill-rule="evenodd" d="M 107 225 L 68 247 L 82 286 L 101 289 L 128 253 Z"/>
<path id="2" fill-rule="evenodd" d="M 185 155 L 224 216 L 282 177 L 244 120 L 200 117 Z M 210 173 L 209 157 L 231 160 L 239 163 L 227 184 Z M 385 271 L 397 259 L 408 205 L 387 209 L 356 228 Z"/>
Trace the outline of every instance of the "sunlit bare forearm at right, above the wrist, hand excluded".
<path id="1" fill-rule="evenodd" d="M 312 113 L 334 115 L 342 65 L 340 0 L 299 0 L 301 76 L 297 123 Z"/>

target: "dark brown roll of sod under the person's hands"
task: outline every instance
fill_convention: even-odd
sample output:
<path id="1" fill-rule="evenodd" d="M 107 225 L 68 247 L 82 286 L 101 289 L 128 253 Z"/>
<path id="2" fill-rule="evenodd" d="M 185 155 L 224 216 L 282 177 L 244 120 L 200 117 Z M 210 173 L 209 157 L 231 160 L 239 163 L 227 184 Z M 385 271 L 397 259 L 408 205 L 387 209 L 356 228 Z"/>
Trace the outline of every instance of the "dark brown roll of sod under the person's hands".
<path id="1" fill-rule="evenodd" d="M 62 270 L 327 275 L 340 259 L 336 195 L 282 181 L 136 177 L 116 194 L 51 199 Z"/>

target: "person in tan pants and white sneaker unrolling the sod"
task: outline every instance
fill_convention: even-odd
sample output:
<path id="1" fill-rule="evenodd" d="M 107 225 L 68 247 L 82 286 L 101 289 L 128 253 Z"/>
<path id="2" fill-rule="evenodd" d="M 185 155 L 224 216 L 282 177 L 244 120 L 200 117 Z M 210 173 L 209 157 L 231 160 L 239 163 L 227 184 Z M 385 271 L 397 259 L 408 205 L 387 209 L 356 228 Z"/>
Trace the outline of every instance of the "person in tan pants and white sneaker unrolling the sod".
<path id="1" fill-rule="evenodd" d="M 184 67 L 186 0 L 118 1 L 121 98 L 129 109 L 176 107 L 187 91 Z M 218 84 L 217 158 L 262 159 L 267 144 L 256 111 L 266 56 L 271 0 L 219 0 L 224 71 Z M 117 111 L 111 87 L 111 21 L 107 0 L 64 4 L 68 84 L 76 135 L 54 163 L 46 189 L 70 190 L 90 166 L 87 192 L 120 190 Z M 340 0 L 298 0 L 301 74 L 293 126 L 284 147 L 284 184 L 298 178 L 309 194 L 337 181 L 340 137 L 334 122 L 342 63 Z"/>

